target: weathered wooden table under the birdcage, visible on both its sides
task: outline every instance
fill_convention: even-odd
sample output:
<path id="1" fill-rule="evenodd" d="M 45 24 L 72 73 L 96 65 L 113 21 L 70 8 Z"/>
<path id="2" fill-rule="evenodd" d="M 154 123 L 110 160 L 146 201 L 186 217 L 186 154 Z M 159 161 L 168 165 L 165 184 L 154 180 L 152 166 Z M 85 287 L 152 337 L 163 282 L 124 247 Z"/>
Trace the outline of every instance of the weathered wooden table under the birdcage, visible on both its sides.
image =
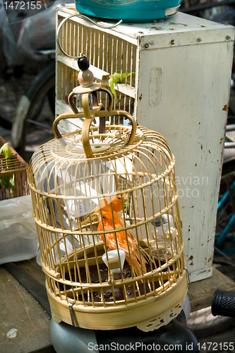
<path id="1" fill-rule="evenodd" d="M 35 258 L 0 265 L 1 353 L 55 353 L 44 282 L 44 273 Z M 188 289 L 191 311 L 210 306 L 217 288 L 235 292 L 235 282 L 216 268 L 212 277 L 193 282 Z M 9 333 L 12 329 L 15 337 Z"/>

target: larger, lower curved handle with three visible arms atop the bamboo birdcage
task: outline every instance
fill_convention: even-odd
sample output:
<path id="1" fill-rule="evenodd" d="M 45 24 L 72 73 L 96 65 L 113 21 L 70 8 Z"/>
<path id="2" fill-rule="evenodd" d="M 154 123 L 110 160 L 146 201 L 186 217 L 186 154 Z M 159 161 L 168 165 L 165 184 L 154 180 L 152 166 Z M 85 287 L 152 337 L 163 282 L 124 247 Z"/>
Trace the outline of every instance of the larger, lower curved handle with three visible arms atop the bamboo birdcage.
<path id="1" fill-rule="evenodd" d="M 131 135 L 127 143 L 127 145 L 131 145 L 135 138 L 137 124 L 133 116 L 124 110 L 112 110 L 110 112 L 108 110 L 97 110 L 90 118 L 86 117 L 84 112 L 80 112 L 78 114 L 73 114 L 73 113 L 61 114 L 54 120 L 54 123 L 52 126 L 54 136 L 57 139 L 60 139 L 63 145 L 66 145 L 64 138 L 61 136 L 61 133 L 59 132 L 59 129 L 58 129 L 59 121 L 61 121 L 62 119 L 76 119 L 76 118 L 85 117 L 86 119 L 83 121 L 83 127 L 82 127 L 82 143 L 83 143 L 85 156 L 87 158 L 92 158 L 94 157 L 92 148 L 90 145 L 90 126 L 92 124 L 92 121 L 94 121 L 95 117 L 100 117 L 105 119 L 106 116 L 116 116 L 116 115 L 125 116 L 131 122 L 131 126 L 132 126 Z"/>

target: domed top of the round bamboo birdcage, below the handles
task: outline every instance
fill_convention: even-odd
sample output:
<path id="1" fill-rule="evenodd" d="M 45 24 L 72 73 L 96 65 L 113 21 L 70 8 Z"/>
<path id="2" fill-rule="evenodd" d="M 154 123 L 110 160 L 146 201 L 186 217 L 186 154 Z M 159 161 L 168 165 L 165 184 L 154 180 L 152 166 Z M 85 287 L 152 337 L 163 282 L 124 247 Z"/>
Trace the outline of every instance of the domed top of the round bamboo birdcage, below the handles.
<path id="1" fill-rule="evenodd" d="M 107 125 L 105 133 L 100 134 L 97 127 L 90 128 L 92 157 L 85 155 L 81 129 L 63 136 L 63 143 L 58 138 L 50 140 L 32 155 L 29 165 L 30 175 L 33 176 L 31 184 L 43 193 L 59 195 L 61 186 L 58 183 L 63 179 L 63 196 L 80 198 L 81 195 L 75 191 L 74 195 L 71 194 L 72 189 L 76 190 L 78 180 L 99 180 L 104 178 L 104 174 L 106 178 L 116 174 L 116 180 L 119 177 L 128 179 L 128 185 L 121 186 L 117 182 L 112 191 L 108 185 L 100 190 L 95 188 L 97 195 L 103 197 L 104 194 L 128 189 L 134 174 L 144 177 L 141 184 L 154 183 L 169 174 L 175 162 L 166 140 L 159 133 L 140 126 L 136 128 L 130 145 L 131 131 L 131 126 Z M 138 170 L 134 167 L 136 163 Z M 68 188 L 68 185 L 71 187 Z M 94 192 L 92 190 L 84 197 L 94 196 Z"/>

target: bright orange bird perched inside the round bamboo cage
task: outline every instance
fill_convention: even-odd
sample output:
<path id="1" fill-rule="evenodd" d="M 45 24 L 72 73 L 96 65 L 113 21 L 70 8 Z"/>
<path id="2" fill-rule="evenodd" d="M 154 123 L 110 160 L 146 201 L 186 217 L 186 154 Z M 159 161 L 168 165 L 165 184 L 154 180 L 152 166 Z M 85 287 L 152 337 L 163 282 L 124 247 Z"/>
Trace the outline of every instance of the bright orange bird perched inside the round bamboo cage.
<path id="1" fill-rule="evenodd" d="M 114 210 L 112 212 L 112 209 L 109 206 L 102 208 L 101 212 L 96 213 L 96 215 L 99 221 L 99 226 L 97 228 L 98 231 L 109 230 L 109 229 L 114 230 L 114 225 L 115 225 L 115 229 L 123 227 L 123 222 L 121 222 L 121 217 Z M 129 230 L 126 230 L 126 232 L 125 231 L 116 232 L 116 239 L 115 239 L 115 233 L 100 234 L 100 238 L 102 239 L 102 241 L 104 241 L 104 236 L 106 239 L 106 244 L 110 249 L 116 250 L 118 245 L 120 250 L 125 251 L 126 261 L 129 263 L 129 265 L 132 264 L 132 268 L 136 275 L 138 276 L 142 275 L 141 263 L 143 266 L 143 273 L 147 272 L 146 261 L 145 261 L 147 254 L 145 254 L 145 251 L 143 251 L 143 249 L 141 248 L 139 251 L 138 242 L 135 239 L 133 232 L 130 232 Z M 141 262 L 140 262 L 140 259 L 141 259 Z"/>

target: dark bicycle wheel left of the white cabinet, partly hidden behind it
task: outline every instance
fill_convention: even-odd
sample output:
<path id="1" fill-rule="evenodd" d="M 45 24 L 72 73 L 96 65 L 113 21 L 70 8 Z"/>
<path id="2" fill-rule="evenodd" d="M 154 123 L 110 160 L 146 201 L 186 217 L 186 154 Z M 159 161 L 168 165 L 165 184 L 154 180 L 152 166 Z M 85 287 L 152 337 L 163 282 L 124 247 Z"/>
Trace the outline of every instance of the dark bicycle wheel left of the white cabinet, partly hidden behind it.
<path id="1" fill-rule="evenodd" d="M 49 96 L 49 98 L 47 97 Z M 25 158 L 30 159 L 30 155 L 38 148 L 38 145 L 53 137 L 52 124 L 54 112 L 53 97 L 55 104 L 55 63 L 46 66 L 32 80 L 28 90 L 20 98 L 15 119 L 11 129 L 11 143 L 13 148 Z M 44 100 L 47 100 L 47 112 L 39 114 Z M 49 112 L 50 111 L 50 112 Z M 27 145 L 28 158 L 25 157 L 25 146 Z"/>

